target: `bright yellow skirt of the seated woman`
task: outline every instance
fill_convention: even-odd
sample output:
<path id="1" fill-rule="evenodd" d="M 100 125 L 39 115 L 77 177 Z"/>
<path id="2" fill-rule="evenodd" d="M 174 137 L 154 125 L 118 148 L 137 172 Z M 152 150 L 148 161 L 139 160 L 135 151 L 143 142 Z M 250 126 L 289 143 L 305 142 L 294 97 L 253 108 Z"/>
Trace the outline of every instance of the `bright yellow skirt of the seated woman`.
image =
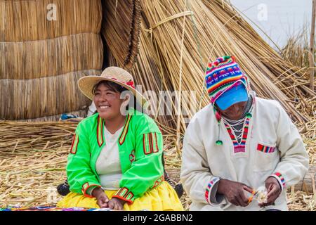
<path id="1" fill-rule="evenodd" d="M 109 199 L 117 193 L 117 191 L 105 191 Z M 65 198 L 58 202 L 57 207 L 85 207 L 85 208 L 100 208 L 96 198 L 88 198 L 78 193 L 70 192 Z M 156 188 L 147 191 L 142 197 L 136 198 L 133 204 L 124 204 L 126 211 L 183 211 L 183 206 L 178 198 L 176 191 L 163 181 Z"/>

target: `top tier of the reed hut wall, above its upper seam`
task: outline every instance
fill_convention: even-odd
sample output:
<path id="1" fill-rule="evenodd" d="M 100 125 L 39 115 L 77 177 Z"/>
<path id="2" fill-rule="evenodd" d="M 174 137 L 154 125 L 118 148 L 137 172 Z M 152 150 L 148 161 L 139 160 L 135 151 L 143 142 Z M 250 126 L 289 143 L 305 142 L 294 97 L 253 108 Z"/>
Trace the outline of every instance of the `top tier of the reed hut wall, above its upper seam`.
<path id="1" fill-rule="evenodd" d="M 48 7 L 54 4 L 55 8 Z M 55 20 L 51 12 L 55 9 Z M 48 19 L 49 20 L 48 20 Z M 100 33 L 100 0 L 0 0 L 0 41 L 37 41 Z"/>

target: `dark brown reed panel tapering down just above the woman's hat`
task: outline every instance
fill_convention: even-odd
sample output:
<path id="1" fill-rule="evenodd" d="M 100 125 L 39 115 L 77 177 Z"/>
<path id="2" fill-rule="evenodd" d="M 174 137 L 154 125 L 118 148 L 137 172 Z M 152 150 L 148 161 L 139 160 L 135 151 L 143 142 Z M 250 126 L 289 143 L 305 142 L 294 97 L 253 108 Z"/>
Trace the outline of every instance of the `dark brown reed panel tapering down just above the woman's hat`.
<path id="1" fill-rule="evenodd" d="M 131 70 L 138 54 L 140 32 L 139 0 L 103 1 L 101 33 L 118 66 Z"/>

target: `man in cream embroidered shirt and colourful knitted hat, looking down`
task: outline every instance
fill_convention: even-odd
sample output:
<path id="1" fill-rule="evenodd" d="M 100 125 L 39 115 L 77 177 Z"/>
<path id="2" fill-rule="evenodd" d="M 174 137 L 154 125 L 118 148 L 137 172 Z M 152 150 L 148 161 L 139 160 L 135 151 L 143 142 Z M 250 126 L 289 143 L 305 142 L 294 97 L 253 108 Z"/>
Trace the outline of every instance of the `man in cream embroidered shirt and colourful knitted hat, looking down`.
<path id="1" fill-rule="evenodd" d="M 308 153 L 282 106 L 256 97 L 235 58 L 209 63 L 211 104 L 191 120 L 180 178 L 190 210 L 287 210 Z"/>

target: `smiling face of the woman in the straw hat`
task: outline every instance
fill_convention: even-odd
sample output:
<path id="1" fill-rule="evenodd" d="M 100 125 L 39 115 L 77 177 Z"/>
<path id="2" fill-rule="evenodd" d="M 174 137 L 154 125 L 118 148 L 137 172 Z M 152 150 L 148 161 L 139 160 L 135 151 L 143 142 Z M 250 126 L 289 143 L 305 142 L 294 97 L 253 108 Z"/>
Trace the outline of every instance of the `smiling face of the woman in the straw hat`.
<path id="1" fill-rule="evenodd" d="M 121 93 L 113 91 L 105 84 L 100 84 L 95 90 L 93 101 L 96 105 L 100 117 L 105 120 L 111 120 L 121 115 L 121 105 L 124 99 L 121 99 Z"/>

